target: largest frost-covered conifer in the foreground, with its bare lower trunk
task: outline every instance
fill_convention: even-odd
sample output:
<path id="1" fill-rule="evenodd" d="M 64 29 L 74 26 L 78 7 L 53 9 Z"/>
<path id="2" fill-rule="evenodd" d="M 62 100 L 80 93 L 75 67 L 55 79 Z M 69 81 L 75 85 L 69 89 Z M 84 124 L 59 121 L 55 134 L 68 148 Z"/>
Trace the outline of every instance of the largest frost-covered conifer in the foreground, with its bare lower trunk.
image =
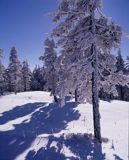
<path id="1" fill-rule="evenodd" d="M 121 27 L 110 22 L 101 13 L 100 6 L 101 0 L 61 0 L 53 18 L 59 22 L 53 35 L 58 37 L 58 44 L 64 49 L 60 68 L 61 77 L 65 79 L 58 89 L 59 95 L 68 93 L 74 86 L 81 100 L 92 100 L 94 135 L 99 142 L 99 89 L 103 87 L 106 92 L 117 94 L 115 85 L 127 83 L 122 73 L 115 74 L 116 60 L 110 56 L 112 48 L 120 45 Z M 108 72 L 106 77 L 104 71 Z"/>

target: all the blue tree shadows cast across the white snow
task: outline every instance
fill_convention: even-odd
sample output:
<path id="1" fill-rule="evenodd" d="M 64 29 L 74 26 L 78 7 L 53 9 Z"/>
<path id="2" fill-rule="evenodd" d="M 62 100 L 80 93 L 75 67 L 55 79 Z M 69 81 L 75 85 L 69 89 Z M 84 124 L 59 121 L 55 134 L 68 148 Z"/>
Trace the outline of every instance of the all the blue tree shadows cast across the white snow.
<path id="1" fill-rule="evenodd" d="M 75 110 L 77 105 L 78 103 L 67 102 L 66 106 L 60 108 L 56 103 L 29 103 L 2 113 L 0 125 L 28 117 L 20 124 L 14 123 L 14 129 L 0 131 L 0 160 L 14 160 L 27 150 L 40 134 L 48 134 L 47 145 L 36 152 L 31 150 L 26 160 L 105 160 L 101 144 L 89 135 L 52 135 L 66 129 L 69 122 L 80 117 Z M 56 142 L 56 146 L 52 145 L 53 142 Z M 64 153 L 64 146 L 73 154 Z M 114 155 L 114 158 L 121 159 L 117 155 Z"/>

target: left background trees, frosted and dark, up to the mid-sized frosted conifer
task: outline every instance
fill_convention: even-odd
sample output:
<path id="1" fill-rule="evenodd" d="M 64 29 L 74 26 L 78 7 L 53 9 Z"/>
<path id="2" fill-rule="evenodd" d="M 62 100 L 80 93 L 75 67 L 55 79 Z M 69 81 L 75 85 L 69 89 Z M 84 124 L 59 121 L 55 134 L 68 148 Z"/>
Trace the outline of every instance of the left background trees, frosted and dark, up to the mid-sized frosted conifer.
<path id="1" fill-rule="evenodd" d="M 9 65 L 2 64 L 3 50 L 0 49 L 0 95 L 7 92 L 43 90 L 45 84 L 42 69 L 36 66 L 31 72 L 27 61 L 20 62 L 15 47 L 11 48 Z"/>

